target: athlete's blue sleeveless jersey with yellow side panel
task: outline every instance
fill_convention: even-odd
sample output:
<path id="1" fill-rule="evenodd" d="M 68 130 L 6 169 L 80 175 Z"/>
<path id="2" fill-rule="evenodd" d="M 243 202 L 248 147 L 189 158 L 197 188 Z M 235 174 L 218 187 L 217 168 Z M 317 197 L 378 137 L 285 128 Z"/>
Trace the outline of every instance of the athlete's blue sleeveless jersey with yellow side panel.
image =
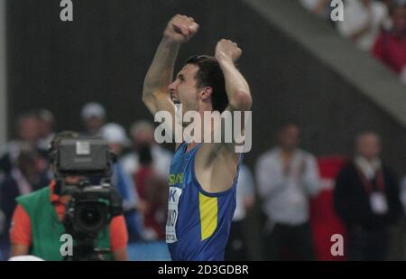
<path id="1" fill-rule="evenodd" d="M 200 146 L 185 153 L 188 144 L 181 144 L 171 162 L 166 242 L 172 260 L 224 260 L 238 172 L 229 190 L 216 194 L 204 191 L 194 171 Z"/>

